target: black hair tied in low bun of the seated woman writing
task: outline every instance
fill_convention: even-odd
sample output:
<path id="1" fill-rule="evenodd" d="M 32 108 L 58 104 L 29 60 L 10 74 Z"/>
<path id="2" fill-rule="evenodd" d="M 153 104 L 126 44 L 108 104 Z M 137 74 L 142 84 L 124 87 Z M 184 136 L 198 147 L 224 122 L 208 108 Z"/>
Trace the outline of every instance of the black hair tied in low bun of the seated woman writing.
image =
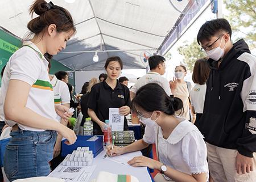
<path id="1" fill-rule="evenodd" d="M 162 111 L 167 115 L 174 115 L 175 111 L 181 110 L 183 113 L 183 102 L 173 95 L 168 96 L 157 83 L 148 83 L 136 92 L 135 98 L 131 101 L 131 111 L 137 113 L 136 107 L 141 107 L 144 111 Z"/>

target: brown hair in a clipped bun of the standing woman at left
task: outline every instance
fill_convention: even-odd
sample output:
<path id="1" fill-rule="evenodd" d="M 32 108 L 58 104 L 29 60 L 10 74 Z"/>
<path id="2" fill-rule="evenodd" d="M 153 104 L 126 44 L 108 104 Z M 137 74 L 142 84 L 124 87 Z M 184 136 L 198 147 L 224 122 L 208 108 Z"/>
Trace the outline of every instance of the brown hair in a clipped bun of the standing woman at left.
<path id="1" fill-rule="evenodd" d="M 36 0 L 31 5 L 29 10 L 31 17 L 34 14 L 38 17 L 30 20 L 27 24 L 27 28 L 31 34 L 38 35 L 43 32 L 50 24 L 55 24 L 57 32 L 68 32 L 73 30 L 76 32 L 76 28 L 73 23 L 73 19 L 68 10 L 63 7 L 53 5 L 52 2 L 47 3 L 44 0 Z"/>

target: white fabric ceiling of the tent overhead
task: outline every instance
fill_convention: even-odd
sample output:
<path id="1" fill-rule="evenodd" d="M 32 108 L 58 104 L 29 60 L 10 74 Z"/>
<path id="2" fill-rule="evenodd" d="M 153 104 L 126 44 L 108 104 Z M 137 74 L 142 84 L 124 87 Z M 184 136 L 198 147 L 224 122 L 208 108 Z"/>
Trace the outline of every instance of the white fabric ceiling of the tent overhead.
<path id="1" fill-rule="evenodd" d="M 174 0 L 172 0 L 174 1 Z M 32 0 L 2 1 L 1 26 L 24 38 L 31 19 L 28 9 Z M 47 1 L 49 2 L 49 1 Z M 71 12 L 77 33 L 63 52 L 99 50 L 158 49 L 174 27 L 180 13 L 168 0 L 76 0 L 67 3 L 52 0 Z M 187 1 L 179 2 L 185 7 Z M 34 15 L 35 16 L 35 15 Z M 124 69 L 145 68 L 142 61 L 145 50 L 133 52 L 99 52 L 99 62 L 93 62 L 94 53 L 59 53 L 53 58 L 72 70 L 102 70 L 106 58 L 119 56 Z"/>

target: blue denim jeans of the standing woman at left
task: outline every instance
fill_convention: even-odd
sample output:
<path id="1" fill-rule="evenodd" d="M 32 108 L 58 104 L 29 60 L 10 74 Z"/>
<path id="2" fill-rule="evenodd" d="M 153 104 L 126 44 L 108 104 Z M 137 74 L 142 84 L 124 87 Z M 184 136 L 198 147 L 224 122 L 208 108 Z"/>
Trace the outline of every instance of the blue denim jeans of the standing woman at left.
<path id="1" fill-rule="evenodd" d="M 49 161 L 53 158 L 56 132 L 31 132 L 18 129 L 10 133 L 3 167 L 10 181 L 26 177 L 47 176 Z"/>

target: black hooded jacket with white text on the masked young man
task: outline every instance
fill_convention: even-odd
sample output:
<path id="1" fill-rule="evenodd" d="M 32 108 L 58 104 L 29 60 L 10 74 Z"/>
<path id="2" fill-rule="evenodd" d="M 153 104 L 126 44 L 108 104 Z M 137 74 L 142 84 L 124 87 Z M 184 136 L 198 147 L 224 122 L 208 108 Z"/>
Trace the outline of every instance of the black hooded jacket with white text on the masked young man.
<path id="1" fill-rule="evenodd" d="M 253 157 L 256 152 L 256 58 L 244 40 L 233 44 L 217 68 L 208 60 L 204 113 L 200 131 L 208 143 L 236 149 Z"/>

